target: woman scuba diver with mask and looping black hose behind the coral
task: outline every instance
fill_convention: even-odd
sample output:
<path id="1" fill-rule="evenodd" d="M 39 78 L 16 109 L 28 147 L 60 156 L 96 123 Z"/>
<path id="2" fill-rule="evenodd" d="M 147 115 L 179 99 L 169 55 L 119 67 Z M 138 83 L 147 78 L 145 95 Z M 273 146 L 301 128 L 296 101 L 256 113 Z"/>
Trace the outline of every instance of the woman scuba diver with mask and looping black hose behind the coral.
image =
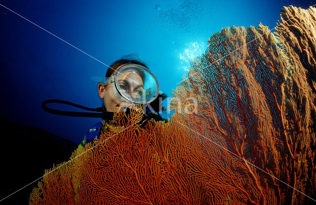
<path id="1" fill-rule="evenodd" d="M 167 97 L 165 94 L 159 93 L 159 84 L 157 77 L 149 70 L 149 68 L 140 61 L 120 59 L 114 62 L 108 69 L 104 77 L 94 79 L 98 83 L 98 94 L 101 99 L 102 107 L 88 108 L 72 102 L 61 100 L 47 100 L 42 103 L 42 108 L 50 113 L 78 116 L 78 117 L 100 117 L 106 122 L 113 120 L 114 113 L 122 110 L 126 115 L 130 112 L 130 106 L 134 104 L 143 105 L 143 118 L 139 124 L 144 126 L 149 119 L 156 121 L 164 121 L 159 112 L 164 108 L 162 101 Z M 91 112 L 72 112 L 61 111 L 48 108 L 47 103 L 64 103 L 79 107 Z M 89 128 L 79 146 L 98 139 L 101 134 L 102 122 L 98 122 Z"/>

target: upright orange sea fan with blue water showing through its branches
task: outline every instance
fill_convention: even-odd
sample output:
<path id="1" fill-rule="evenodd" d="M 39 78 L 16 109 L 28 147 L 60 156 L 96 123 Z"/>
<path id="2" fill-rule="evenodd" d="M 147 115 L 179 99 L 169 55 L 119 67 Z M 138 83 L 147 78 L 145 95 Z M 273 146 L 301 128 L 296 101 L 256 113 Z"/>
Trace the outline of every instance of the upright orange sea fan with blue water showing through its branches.
<path id="1" fill-rule="evenodd" d="M 265 33 L 267 36 L 261 36 Z M 271 106 L 265 95 L 269 88 L 265 88 L 256 79 L 262 77 L 257 76 L 256 72 L 266 70 L 266 65 L 272 67 L 267 58 L 270 57 L 269 53 L 265 53 L 269 48 L 267 41 L 272 41 L 272 37 L 268 28 L 262 25 L 257 29 L 251 27 L 247 30 L 226 28 L 213 35 L 208 41 L 209 48 L 206 53 L 198 59 L 198 64 L 192 64 L 188 78 L 183 83 L 189 86 L 189 95 L 196 97 L 197 111 L 192 114 L 181 110 L 181 114 L 174 117 L 177 122 L 208 138 L 209 141 L 204 141 L 201 147 L 217 167 L 217 170 L 213 171 L 214 175 L 223 170 L 232 170 L 230 174 L 226 173 L 232 180 L 222 183 L 211 181 L 213 189 L 224 187 L 222 191 L 228 195 L 232 187 L 238 186 L 241 191 L 231 199 L 245 204 L 265 204 L 267 198 L 270 201 L 273 199 L 268 183 L 274 183 L 274 179 L 258 175 L 255 167 L 248 163 L 276 175 L 279 155 L 275 149 Z M 246 46 L 249 41 L 253 42 L 253 45 L 249 45 L 252 49 Z M 253 68 L 259 64 L 262 68 Z M 276 66 L 279 65 L 273 65 Z M 275 75 L 277 74 L 279 73 Z M 196 78 L 195 75 L 199 77 Z M 282 76 L 275 78 L 280 77 Z M 204 80 L 200 81 L 200 78 Z M 271 81 L 270 77 L 266 78 Z M 274 85 L 266 82 L 269 84 L 267 86 Z M 280 87 L 280 83 L 275 86 L 275 89 L 280 89 L 277 86 Z M 191 103 L 186 99 L 185 102 L 179 101 L 181 98 L 178 96 L 188 95 L 188 90 L 183 87 L 184 91 L 176 91 L 171 108 L 178 108 L 178 103 Z M 203 89 L 200 89 L 201 87 Z M 216 144 L 211 144 L 210 141 Z M 266 167 L 272 169 L 268 170 Z"/>

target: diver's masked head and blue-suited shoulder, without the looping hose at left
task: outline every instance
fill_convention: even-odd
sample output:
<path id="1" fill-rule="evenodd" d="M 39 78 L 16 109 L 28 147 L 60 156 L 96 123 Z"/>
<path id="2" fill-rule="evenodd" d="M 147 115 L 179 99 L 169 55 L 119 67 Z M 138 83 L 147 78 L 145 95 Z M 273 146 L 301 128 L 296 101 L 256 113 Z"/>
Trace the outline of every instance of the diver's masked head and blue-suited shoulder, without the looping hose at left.
<path id="1" fill-rule="evenodd" d="M 113 63 L 106 72 L 104 83 L 99 82 L 98 93 L 103 108 L 108 112 L 117 112 L 119 109 L 128 112 L 132 103 L 143 104 L 146 114 L 143 121 L 147 121 L 148 117 L 156 121 L 166 121 L 159 115 L 162 109 L 159 100 L 165 99 L 166 95 L 159 94 L 156 76 L 140 61 L 121 59 Z M 102 122 L 93 125 L 81 145 L 98 139 L 102 125 Z"/>

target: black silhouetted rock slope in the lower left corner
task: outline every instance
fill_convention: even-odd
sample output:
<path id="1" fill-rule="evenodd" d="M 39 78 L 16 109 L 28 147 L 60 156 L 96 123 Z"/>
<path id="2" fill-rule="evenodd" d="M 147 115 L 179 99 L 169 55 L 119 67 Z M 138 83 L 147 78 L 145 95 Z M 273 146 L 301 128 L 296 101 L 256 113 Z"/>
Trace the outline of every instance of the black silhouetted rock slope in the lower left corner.
<path id="1" fill-rule="evenodd" d="M 43 176 L 53 164 L 68 161 L 78 147 L 72 141 L 45 130 L 21 125 L 0 116 L 0 200 Z M 36 182 L 0 202 L 0 205 L 27 205 Z"/>

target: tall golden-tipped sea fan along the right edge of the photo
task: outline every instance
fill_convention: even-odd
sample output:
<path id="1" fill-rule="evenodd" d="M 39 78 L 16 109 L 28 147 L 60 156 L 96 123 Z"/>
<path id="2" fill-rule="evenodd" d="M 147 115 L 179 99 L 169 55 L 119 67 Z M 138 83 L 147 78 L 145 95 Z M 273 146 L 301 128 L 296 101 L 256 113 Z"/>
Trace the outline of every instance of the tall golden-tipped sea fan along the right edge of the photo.
<path id="1" fill-rule="evenodd" d="M 281 12 L 283 24 L 276 29 L 278 41 L 288 58 L 284 83 L 284 137 L 288 161 L 284 181 L 316 198 L 316 9 L 293 6 Z M 304 201 L 305 196 L 288 187 L 289 201 Z"/>

